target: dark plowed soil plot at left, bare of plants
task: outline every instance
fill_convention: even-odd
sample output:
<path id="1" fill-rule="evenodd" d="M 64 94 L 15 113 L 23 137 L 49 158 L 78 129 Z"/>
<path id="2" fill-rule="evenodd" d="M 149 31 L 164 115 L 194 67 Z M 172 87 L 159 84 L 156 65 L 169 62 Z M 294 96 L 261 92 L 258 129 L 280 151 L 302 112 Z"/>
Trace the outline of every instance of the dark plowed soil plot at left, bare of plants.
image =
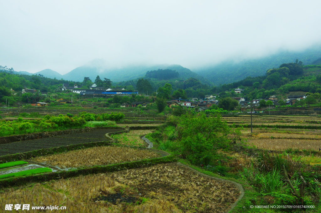
<path id="1" fill-rule="evenodd" d="M 104 137 L 106 133 L 120 130 L 121 129 L 96 129 L 78 134 L 59 135 L 30 141 L 0 144 L 0 156 L 58 146 L 104 141 L 106 139 Z"/>

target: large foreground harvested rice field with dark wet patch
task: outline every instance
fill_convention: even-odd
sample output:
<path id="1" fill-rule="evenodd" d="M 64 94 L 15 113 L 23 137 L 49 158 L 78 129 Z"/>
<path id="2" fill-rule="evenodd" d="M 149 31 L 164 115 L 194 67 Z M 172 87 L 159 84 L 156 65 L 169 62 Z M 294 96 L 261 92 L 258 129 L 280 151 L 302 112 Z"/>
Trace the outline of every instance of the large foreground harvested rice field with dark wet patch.
<path id="1" fill-rule="evenodd" d="M 72 213 L 225 212 L 239 195 L 234 184 L 169 163 L 6 189 L 0 194 L 0 205 L 61 204 Z M 30 207 L 30 212 L 36 210 Z"/>

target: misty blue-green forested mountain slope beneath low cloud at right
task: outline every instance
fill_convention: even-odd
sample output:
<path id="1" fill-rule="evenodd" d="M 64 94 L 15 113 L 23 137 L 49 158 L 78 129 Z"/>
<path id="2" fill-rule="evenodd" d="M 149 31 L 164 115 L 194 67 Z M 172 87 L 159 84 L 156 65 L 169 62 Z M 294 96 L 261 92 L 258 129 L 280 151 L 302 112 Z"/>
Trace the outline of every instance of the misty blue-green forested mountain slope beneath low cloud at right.
<path id="1" fill-rule="evenodd" d="M 229 84 L 246 78 L 265 75 L 266 70 L 277 68 L 280 64 L 291 63 L 296 59 L 304 65 L 312 64 L 321 56 L 321 47 L 315 46 L 302 52 L 283 51 L 260 59 L 234 62 L 224 61 L 218 65 L 195 69 L 196 73 L 207 78 L 214 85 Z M 314 64 L 317 64 L 314 62 Z"/>

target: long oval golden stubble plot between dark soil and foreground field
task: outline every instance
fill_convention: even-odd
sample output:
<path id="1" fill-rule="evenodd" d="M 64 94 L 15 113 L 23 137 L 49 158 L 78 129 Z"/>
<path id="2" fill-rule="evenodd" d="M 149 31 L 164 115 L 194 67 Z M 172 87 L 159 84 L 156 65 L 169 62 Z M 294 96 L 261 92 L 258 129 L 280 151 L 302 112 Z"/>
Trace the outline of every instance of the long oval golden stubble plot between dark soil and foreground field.
<path id="1" fill-rule="evenodd" d="M 160 155 L 148 150 L 137 150 L 128 147 L 100 146 L 66 153 L 37 157 L 37 162 L 46 162 L 60 168 L 90 167 L 126 161 L 156 158 Z"/>

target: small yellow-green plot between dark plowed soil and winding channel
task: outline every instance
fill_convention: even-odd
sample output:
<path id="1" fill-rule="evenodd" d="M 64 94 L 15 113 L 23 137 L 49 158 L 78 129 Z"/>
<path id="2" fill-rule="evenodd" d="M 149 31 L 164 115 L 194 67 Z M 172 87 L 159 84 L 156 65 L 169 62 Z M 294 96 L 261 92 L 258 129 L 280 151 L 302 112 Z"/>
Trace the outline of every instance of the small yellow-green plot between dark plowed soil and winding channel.
<path id="1" fill-rule="evenodd" d="M 112 135 L 121 145 L 146 147 L 147 143 L 141 139 L 141 136 L 152 133 L 152 130 L 131 130 L 129 133 L 122 133 L 119 135 Z"/>

